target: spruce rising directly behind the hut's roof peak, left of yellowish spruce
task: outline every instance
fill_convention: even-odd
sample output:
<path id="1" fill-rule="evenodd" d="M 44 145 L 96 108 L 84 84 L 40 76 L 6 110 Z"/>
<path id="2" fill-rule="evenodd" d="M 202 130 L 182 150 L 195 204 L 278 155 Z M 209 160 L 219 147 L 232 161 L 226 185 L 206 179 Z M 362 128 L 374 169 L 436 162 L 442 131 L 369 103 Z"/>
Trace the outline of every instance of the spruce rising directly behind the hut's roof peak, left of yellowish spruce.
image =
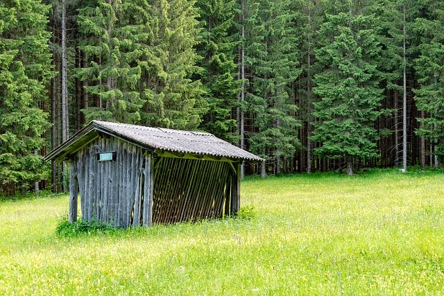
<path id="1" fill-rule="evenodd" d="M 149 13 L 148 1 L 96 0 L 79 9 L 79 49 L 88 63 L 76 76 L 87 82 L 85 90 L 96 102 L 83 110 L 87 121 L 141 119 L 144 100 L 138 59 L 148 34 L 139 10 Z"/>

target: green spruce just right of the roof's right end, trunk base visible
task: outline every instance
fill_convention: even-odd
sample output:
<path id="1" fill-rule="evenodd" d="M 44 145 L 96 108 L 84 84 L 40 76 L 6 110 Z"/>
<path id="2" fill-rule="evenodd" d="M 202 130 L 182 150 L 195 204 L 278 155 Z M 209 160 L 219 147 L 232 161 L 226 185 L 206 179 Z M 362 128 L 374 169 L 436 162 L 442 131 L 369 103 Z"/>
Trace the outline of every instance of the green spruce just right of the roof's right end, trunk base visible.
<path id="1" fill-rule="evenodd" d="M 301 70 L 298 40 L 294 31 L 296 14 L 290 1 L 251 1 L 248 6 L 246 64 L 251 69 L 246 100 L 255 132 L 250 134 L 250 150 L 271 159 L 275 172 L 280 162 L 299 146 L 291 84 Z"/>

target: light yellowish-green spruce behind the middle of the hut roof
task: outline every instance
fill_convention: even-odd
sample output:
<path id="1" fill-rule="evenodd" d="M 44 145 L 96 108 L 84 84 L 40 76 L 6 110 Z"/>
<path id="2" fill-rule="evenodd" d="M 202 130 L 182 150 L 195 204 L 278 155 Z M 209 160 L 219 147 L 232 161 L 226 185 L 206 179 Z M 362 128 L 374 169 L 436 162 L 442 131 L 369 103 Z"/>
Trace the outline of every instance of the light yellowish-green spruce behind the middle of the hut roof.
<path id="1" fill-rule="evenodd" d="M 146 99 L 142 122 L 176 129 L 196 129 L 207 112 L 205 90 L 192 80 L 201 69 L 198 10 L 195 1 L 154 0 L 148 21 L 150 40 L 140 60 Z"/>

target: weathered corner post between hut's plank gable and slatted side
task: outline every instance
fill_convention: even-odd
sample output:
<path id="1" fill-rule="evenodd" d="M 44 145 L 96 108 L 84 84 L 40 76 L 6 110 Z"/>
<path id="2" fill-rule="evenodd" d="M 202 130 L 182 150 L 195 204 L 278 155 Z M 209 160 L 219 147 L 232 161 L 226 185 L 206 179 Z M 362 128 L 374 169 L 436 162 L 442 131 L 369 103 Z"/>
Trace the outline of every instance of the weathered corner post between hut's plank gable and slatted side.
<path id="1" fill-rule="evenodd" d="M 142 225 L 153 225 L 153 189 L 154 189 L 154 159 L 151 155 L 145 157 L 145 182 L 144 182 L 144 204 L 142 214 Z"/>

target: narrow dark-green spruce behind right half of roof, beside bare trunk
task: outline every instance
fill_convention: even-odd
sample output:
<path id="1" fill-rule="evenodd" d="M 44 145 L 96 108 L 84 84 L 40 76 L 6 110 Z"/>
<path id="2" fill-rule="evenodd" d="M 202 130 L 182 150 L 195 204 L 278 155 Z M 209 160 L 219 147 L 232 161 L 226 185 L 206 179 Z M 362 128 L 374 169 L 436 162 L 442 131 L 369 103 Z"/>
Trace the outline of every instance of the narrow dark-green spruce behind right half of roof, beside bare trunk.
<path id="1" fill-rule="evenodd" d="M 200 128 L 216 134 L 232 143 L 237 143 L 237 122 L 233 116 L 239 95 L 237 80 L 237 33 L 234 17 L 237 13 L 235 0 L 198 0 L 200 21 L 200 44 L 202 71 L 198 78 L 205 87 L 208 113 Z"/>

